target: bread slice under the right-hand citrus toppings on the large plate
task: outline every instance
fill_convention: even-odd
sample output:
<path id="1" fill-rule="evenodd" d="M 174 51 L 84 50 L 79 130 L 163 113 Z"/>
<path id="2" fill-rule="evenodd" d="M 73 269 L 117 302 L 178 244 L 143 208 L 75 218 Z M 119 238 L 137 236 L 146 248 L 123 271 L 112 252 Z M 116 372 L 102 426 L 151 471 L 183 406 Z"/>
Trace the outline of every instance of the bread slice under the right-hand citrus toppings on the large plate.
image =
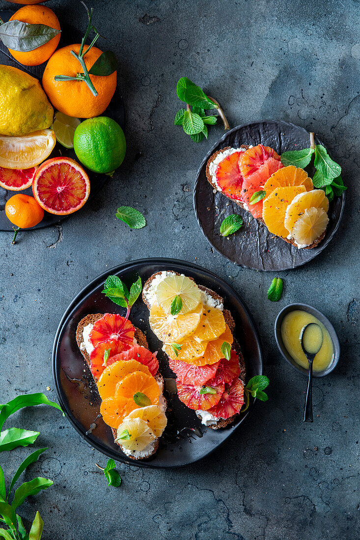
<path id="1" fill-rule="evenodd" d="M 168 272 L 171 272 L 171 273 L 176 274 L 176 275 L 181 275 L 178 272 L 174 272 L 172 270 L 168 271 Z M 156 279 L 156 276 L 161 275 L 161 274 L 162 274 L 162 272 L 156 272 L 155 274 L 152 274 L 150 276 L 150 278 L 145 282 L 145 285 L 143 287 L 143 301 L 144 301 L 146 307 L 148 307 L 149 311 L 150 311 L 150 307 L 151 307 L 150 302 L 149 302 L 149 293 L 150 293 L 150 289 L 151 289 L 151 286 L 152 286 L 152 282 L 154 281 L 154 279 Z M 193 278 L 189 278 L 189 279 L 191 279 L 192 281 L 195 282 L 195 280 Z M 207 287 L 204 287 L 203 285 L 198 285 L 198 287 L 199 287 L 199 289 L 201 291 L 203 291 L 206 294 L 208 294 L 209 296 L 211 296 L 211 298 L 217 302 L 218 306 L 223 306 L 224 305 L 224 300 L 219 294 L 217 294 L 214 291 L 211 291 L 211 289 L 208 289 Z M 224 319 L 225 319 L 226 324 L 229 326 L 229 328 L 231 330 L 231 333 L 234 334 L 235 321 L 232 318 L 232 315 L 231 315 L 230 311 L 228 311 L 228 309 L 223 309 L 223 314 L 224 314 Z M 241 348 L 240 348 L 238 342 L 235 339 L 234 339 L 234 342 L 232 343 L 231 348 L 235 350 L 236 354 L 239 357 L 239 367 L 240 367 L 239 379 L 241 379 L 243 382 L 245 382 L 245 375 L 246 375 L 245 361 L 244 361 L 243 354 L 241 352 Z M 227 418 L 227 419 L 220 419 L 220 420 L 218 420 L 216 422 L 214 421 L 213 424 L 210 424 L 210 425 L 208 425 L 206 427 L 209 427 L 211 429 L 225 428 L 231 422 L 234 422 L 234 420 L 236 419 L 238 414 L 239 413 L 235 414 L 234 416 L 230 416 L 230 418 Z"/>

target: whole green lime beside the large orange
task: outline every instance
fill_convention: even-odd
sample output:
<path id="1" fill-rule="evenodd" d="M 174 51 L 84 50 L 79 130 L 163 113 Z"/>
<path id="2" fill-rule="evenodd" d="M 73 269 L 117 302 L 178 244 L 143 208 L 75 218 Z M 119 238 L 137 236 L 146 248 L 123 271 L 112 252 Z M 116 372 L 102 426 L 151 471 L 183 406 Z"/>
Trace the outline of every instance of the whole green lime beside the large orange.
<path id="1" fill-rule="evenodd" d="M 75 130 L 74 150 L 90 171 L 111 173 L 125 157 L 124 132 L 115 120 L 106 116 L 88 118 Z"/>

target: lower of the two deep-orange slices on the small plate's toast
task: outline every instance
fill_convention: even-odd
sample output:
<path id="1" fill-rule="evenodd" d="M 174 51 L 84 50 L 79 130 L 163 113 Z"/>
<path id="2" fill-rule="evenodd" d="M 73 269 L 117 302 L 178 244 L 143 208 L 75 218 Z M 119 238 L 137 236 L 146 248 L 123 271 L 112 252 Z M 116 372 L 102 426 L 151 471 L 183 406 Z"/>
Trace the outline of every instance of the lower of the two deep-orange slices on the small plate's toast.
<path id="1" fill-rule="evenodd" d="M 296 195 L 303 192 L 305 192 L 304 186 L 278 187 L 269 197 L 266 197 L 263 204 L 263 219 L 272 234 L 288 237 L 289 231 L 284 226 L 286 208 Z"/>

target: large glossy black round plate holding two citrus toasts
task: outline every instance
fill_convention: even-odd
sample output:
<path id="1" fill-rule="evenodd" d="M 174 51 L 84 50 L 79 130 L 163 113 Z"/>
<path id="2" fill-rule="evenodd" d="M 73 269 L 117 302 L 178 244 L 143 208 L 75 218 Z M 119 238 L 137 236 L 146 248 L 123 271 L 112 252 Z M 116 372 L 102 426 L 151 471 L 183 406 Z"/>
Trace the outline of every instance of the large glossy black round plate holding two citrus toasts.
<path id="1" fill-rule="evenodd" d="M 240 414 L 233 425 L 225 429 L 212 430 L 205 428 L 197 419 L 195 411 L 185 407 L 176 394 L 165 392 L 168 399 L 168 426 L 161 438 L 159 450 L 155 456 L 139 461 L 130 460 L 122 453 L 114 443 L 110 428 L 106 426 L 102 418 L 97 418 L 99 396 L 75 339 L 78 322 L 90 313 L 124 314 L 122 308 L 101 294 L 104 280 L 109 274 L 118 275 L 130 286 L 138 276 L 141 276 L 144 284 L 150 275 L 166 269 L 189 275 L 198 284 L 209 287 L 224 298 L 225 308 L 230 309 L 234 316 L 235 338 L 241 345 L 245 358 L 246 379 L 262 374 L 263 369 L 261 342 L 248 309 L 234 289 L 212 272 L 192 265 L 190 262 L 174 259 L 143 259 L 126 262 L 98 276 L 75 297 L 59 324 L 52 350 L 52 375 L 59 402 L 78 433 L 103 454 L 117 461 L 136 464 L 140 467 L 181 467 L 209 455 L 240 427 L 254 407 L 254 401 L 251 400 L 249 409 Z M 165 388 L 169 387 L 169 380 L 174 377 L 174 374 L 169 369 L 165 355 L 161 351 L 162 343 L 150 330 L 149 311 L 141 298 L 131 310 L 131 321 L 145 332 L 150 350 L 159 351 L 160 370 L 165 379 Z M 97 427 L 91 433 L 87 433 L 95 419 Z"/>

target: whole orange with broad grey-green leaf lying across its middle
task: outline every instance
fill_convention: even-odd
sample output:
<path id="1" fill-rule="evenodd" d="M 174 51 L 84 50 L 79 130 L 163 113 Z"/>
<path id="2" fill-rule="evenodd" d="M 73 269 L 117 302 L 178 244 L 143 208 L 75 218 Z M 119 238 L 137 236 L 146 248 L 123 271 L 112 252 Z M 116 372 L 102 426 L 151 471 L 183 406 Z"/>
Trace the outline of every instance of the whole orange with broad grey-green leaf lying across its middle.
<path id="1" fill-rule="evenodd" d="M 29 24 L 45 24 L 46 26 L 51 26 L 51 28 L 56 28 L 60 30 L 60 23 L 56 17 L 54 11 L 51 11 L 49 8 L 45 8 L 44 5 L 24 5 L 23 8 L 20 8 L 10 17 L 10 21 L 21 21 L 22 23 Z M 46 60 L 49 60 L 52 53 L 55 51 L 59 44 L 60 34 L 53 37 L 45 43 L 28 52 L 14 51 L 9 49 L 12 56 L 25 66 L 38 66 Z"/>

